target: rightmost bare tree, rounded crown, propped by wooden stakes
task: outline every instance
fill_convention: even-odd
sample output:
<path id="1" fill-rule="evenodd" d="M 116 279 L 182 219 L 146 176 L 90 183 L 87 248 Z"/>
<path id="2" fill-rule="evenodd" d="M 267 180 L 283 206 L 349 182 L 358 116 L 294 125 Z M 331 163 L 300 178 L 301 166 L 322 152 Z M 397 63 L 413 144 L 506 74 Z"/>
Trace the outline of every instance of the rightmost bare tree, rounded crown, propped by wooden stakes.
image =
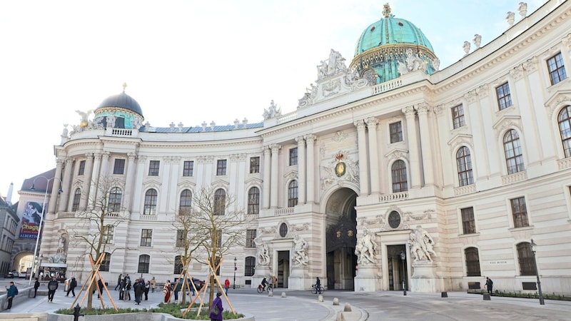
<path id="1" fill-rule="evenodd" d="M 246 242 L 246 225 L 249 220 L 244 210 L 236 207 L 236 199 L 226 195 L 223 188 L 202 188 L 193 195 L 190 227 L 196 233 L 194 240 L 200 256 L 193 258 L 199 263 L 210 263 L 216 267 L 224 255 Z M 218 274 L 218 273 L 217 273 Z M 213 289 L 215 278 L 211 275 Z M 218 285 L 221 287 L 221 285 Z M 214 298 L 213 290 L 208 298 L 210 306 Z"/>

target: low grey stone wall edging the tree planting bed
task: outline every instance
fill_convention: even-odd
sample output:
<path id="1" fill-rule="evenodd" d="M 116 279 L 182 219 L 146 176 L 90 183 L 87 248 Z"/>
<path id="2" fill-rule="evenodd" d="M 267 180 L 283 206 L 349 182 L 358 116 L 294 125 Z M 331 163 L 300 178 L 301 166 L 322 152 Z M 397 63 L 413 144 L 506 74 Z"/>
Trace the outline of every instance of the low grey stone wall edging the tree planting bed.
<path id="1" fill-rule="evenodd" d="M 20 320 L 20 319 L 17 319 Z M 25 319 L 24 319 L 25 320 Z M 46 319 L 44 319 L 46 320 Z M 73 321 L 73 315 L 56 315 L 49 314 L 47 321 Z M 118 315 L 86 315 L 85 317 L 80 317 L 81 321 L 176 321 L 176 320 L 186 320 L 179 319 L 178 317 L 173 317 L 172 315 L 167 315 L 166 313 L 151 313 L 151 312 L 135 312 L 135 313 L 122 313 Z M 256 321 L 253 315 L 246 315 L 240 319 L 233 319 L 236 321 Z M 35 320 L 34 320 L 35 321 Z M 43 320 L 38 320 L 43 321 Z"/>

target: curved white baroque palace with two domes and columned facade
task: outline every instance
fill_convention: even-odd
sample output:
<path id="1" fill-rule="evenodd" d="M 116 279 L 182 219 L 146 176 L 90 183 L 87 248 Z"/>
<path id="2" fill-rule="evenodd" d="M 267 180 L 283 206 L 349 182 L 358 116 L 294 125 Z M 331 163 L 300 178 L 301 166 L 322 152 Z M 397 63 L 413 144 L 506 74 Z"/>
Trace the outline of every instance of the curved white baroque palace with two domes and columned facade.
<path id="1" fill-rule="evenodd" d="M 387 5 L 349 66 L 332 49 L 298 108 L 272 102 L 261 123 L 158 128 L 124 91 L 106 98 L 55 146 L 50 183 L 64 192 L 49 197 L 42 269 L 84 280 L 86 248 L 71 230 L 110 177 L 124 183 L 110 206 L 125 219 L 105 231 L 118 248 L 103 266 L 110 282 L 172 280 L 173 215 L 208 186 L 253 218 L 221 267 L 231 279 L 237 263 L 238 286 L 277 275 L 299 290 L 320 277 L 335 289 L 437 292 L 489 276 L 498 290 L 532 290 L 535 250 L 543 290 L 570 293 L 571 3 L 520 15 L 439 70 L 430 41 Z M 37 200 L 28 189 L 21 197 Z"/>

